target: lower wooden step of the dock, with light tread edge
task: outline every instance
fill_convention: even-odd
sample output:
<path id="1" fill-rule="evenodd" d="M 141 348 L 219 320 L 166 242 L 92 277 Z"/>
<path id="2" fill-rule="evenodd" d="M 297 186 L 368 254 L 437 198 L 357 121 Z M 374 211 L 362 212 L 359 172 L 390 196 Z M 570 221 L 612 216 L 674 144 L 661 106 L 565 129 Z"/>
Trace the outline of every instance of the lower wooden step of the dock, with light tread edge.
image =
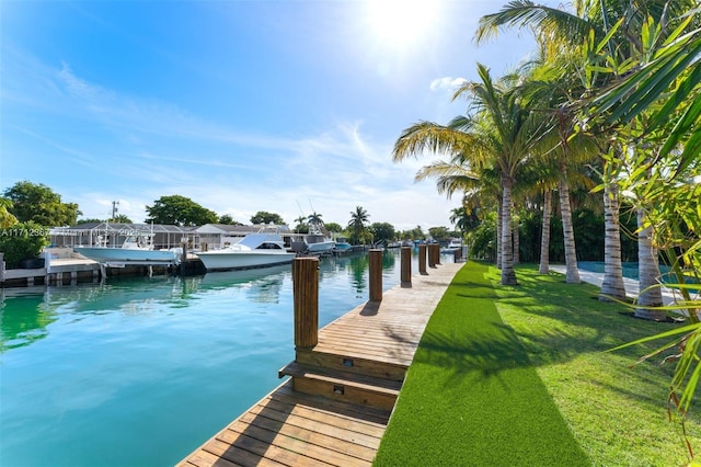
<path id="1" fill-rule="evenodd" d="M 292 362 L 278 372 L 291 376 L 296 391 L 324 396 L 345 402 L 392 410 L 402 386 L 401 381 L 358 375 Z"/>

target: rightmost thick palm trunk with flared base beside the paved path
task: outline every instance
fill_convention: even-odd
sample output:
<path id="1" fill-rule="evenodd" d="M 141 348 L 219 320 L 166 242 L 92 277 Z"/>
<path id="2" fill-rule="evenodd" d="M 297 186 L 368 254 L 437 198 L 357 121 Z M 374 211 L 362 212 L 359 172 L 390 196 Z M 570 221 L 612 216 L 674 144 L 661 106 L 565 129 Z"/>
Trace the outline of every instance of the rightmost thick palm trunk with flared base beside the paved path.
<path id="1" fill-rule="evenodd" d="M 662 306 L 662 288 L 659 283 L 659 265 L 657 263 L 657 249 L 653 247 L 652 226 L 645 226 L 645 212 L 637 209 L 637 280 L 640 284 L 640 294 L 637 296 L 637 305 L 643 307 Z M 650 288 L 652 287 L 652 288 Z M 664 310 L 651 310 L 645 308 L 636 308 L 635 317 L 662 321 L 666 318 Z"/>

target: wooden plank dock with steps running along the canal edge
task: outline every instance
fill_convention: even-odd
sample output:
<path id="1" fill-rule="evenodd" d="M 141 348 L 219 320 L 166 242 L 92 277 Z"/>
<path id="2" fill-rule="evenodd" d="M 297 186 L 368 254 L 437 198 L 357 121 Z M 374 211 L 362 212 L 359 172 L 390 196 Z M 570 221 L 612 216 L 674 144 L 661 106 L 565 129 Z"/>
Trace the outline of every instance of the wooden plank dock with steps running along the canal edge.
<path id="1" fill-rule="evenodd" d="M 319 331 L 286 381 L 180 466 L 370 466 L 428 318 L 460 263 L 432 267 Z"/>

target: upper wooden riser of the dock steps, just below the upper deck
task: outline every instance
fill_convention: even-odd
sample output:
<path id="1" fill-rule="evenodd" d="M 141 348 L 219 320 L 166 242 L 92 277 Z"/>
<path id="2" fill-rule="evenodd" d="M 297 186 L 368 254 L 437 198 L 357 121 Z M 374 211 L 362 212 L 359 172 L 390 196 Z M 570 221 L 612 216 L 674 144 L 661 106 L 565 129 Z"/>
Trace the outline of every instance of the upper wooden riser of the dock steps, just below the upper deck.
<path id="1" fill-rule="evenodd" d="M 394 381 L 403 381 L 407 369 L 406 366 L 398 365 L 395 363 L 356 357 L 353 355 L 319 352 L 313 349 L 296 349 L 296 362 L 301 365 L 318 366 L 357 375 L 375 376 Z"/>

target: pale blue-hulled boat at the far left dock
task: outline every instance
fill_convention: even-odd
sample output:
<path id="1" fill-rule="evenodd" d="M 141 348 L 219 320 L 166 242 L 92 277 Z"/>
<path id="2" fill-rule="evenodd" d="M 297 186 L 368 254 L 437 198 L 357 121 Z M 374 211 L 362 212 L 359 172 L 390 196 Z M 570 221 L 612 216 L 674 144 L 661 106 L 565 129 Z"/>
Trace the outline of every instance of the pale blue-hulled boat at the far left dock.
<path id="1" fill-rule="evenodd" d="M 180 262 L 180 249 L 154 250 L 148 239 L 128 236 L 122 247 L 73 247 L 73 251 L 106 265 L 169 265 Z"/>

